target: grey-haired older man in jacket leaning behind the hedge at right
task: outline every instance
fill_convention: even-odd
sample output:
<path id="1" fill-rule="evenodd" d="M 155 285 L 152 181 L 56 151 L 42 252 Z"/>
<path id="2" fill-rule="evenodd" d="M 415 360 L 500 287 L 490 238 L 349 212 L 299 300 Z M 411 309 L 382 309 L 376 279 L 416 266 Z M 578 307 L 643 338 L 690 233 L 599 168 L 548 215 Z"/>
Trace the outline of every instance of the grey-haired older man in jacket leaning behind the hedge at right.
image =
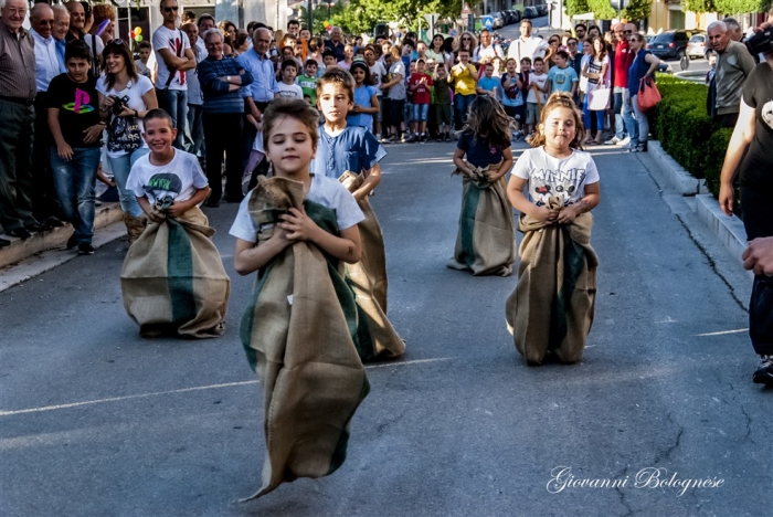
<path id="1" fill-rule="evenodd" d="M 730 39 L 728 25 L 724 22 L 709 23 L 707 33 L 711 48 L 718 53 L 714 74 L 716 118 L 722 127 L 733 127 L 741 106 L 743 83 L 754 68 L 754 57 L 744 44 Z"/>

